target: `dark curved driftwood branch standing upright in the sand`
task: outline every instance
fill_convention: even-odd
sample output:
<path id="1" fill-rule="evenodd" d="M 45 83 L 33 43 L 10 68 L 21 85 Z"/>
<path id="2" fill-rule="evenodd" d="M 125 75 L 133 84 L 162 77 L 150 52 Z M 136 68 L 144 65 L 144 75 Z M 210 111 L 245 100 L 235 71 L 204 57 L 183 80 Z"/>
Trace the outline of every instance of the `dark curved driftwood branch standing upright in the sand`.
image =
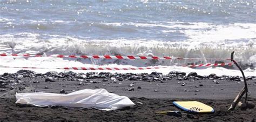
<path id="1" fill-rule="evenodd" d="M 244 94 L 245 94 L 245 102 L 244 103 L 247 103 L 247 93 L 248 93 L 248 87 L 247 87 L 247 82 L 246 82 L 245 74 L 242 71 L 241 67 L 237 64 L 237 62 L 235 62 L 235 60 L 234 60 L 234 52 L 231 53 L 231 61 L 241 71 L 242 77 L 244 78 L 245 87 L 243 87 L 242 90 L 238 93 L 237 97 L 235 97 L 233 103 L 231 104 L 231 106 L 230 106 L 230 108 L 228 110 L 233 110 L 235 108 L 235 106 L 237 106 L 238 102 L 241 100 L 242 96 L 244 96 Z"/>

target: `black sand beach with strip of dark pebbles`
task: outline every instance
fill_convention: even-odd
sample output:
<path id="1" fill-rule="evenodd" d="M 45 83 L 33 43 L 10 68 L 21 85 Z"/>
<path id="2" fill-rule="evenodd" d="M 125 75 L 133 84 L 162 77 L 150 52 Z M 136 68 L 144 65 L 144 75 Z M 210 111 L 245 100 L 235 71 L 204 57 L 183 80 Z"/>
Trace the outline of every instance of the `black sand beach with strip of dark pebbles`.
<path id="1" fill-rule="evenodd" d="M 193 75 L 191 75 L 193 74 Z M 199 76 L 196 73 L 170 72 L 163 75 L 111 73 L 39 74 L 31 71 L 5 73 L 0 76 L 2 96 L 0 120 L 71 120 L 71 121 L 255 121 L 256 109 L 227 111 L 235 96 L 244 86 L 240 77 Z M 256 78 L 247 77 L 249 101 L 256 104 Z M 70 93 L 82 89 L 103 88 L 120 96 L 129 97 L 136 105 L 116 111 L 78 109 L 64 106 L 34 107 L 15 104 L 15 92 Z M 25 91 L 24 91 L 25 90 Z M 28 91 L 26 91 L 28 90 Z M 15 92 L 14 92 L 15 91 Z M 6 94 L 8 93 L 8 94 Z M 177 111 L 172 101 L 197 100 L 213 107 L 213 114 L 190 114 L 182 117 L 156 114 L 158 111 Z M 181 110 L 179 110 L 181 111 Z"/>

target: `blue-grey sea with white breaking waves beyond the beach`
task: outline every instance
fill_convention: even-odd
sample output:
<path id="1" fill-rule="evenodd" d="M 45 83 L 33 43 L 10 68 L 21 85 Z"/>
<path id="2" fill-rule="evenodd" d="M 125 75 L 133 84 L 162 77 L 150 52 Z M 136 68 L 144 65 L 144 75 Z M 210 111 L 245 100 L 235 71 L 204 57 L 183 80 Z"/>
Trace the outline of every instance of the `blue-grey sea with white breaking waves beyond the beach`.
<path id="1" fill-rule="evenodd" d="M 254 0 L 0 0 L 0 53 L 203 58 L 0 57 L 2 66 L 173 66 L 218 62 L 205 58 L 230 58 L 232 51 L 255 73 Z"/>

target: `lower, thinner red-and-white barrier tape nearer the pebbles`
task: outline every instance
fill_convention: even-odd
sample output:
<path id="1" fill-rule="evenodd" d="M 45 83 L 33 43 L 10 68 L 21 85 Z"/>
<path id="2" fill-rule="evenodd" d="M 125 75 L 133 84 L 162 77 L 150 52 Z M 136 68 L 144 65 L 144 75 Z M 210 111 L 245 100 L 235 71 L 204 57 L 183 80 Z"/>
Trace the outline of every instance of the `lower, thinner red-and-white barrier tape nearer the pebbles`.
<path id="1" fill-rule="evenodd" d="M 233 65 L 232 63 L 220 63 L 220 64 L 198 64 L 198 65 L 186 65 L 185 67 L 210 67 L 210 66 L 225 66 Z M 58 69 L 58 70 L 151 70 L 168 68 L 167 66 L 161 67 L 63 67 L 63 68 L 46 68 L 46 67 L 18 67 L 18 66 L 0 66 L 4 68 L 19 68 L 19 69 Z"/>

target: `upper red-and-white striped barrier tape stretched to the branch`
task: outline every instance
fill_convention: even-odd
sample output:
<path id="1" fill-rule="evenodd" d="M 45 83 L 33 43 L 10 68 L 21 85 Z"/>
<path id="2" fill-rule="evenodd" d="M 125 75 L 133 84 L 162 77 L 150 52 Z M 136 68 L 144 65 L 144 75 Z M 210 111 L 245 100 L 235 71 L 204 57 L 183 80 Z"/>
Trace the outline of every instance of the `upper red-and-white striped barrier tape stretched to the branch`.
<path id="1" fill-rule="evenodd" d="M 98 55 L 93 55 L 93 56 L 76 56 L 76 55 L 50 55 L 50 56 L 43 56 L 43 55 L 29 55 L 29 54 L 5 54 L 2 53 L 0 54 L 0 57 L 4 56 L 19 56 L 19 57 L 55 57 L 55 58 L 92 58 L 92 59 L 207 59 L 207 60 L 230 60 L 230 58 L 182 58 L 182 57 L 157 57 L 157 56 L 109 56 L 109 55 L 104 55 L 104 56 L 98 56 Z"/>

